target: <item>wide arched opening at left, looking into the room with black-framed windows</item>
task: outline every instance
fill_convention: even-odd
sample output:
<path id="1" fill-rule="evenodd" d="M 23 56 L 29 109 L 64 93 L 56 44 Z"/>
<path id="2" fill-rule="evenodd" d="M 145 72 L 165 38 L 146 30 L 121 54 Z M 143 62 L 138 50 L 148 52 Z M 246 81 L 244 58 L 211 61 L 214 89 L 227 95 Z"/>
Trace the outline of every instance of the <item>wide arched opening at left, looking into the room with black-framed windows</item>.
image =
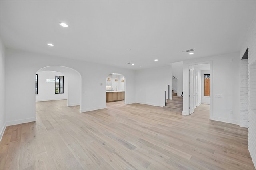
<path id="1" fill-rule="evenodd" d="M 81 108 L 82 80 L 79 72 L 64 66 L 47 66 L 40 68 L 36 74 L 38 75 L 36 102 L 67 99 L 67 106 L 80 105 Z M 58 79 L 60 81 L 56 82 Z"/>

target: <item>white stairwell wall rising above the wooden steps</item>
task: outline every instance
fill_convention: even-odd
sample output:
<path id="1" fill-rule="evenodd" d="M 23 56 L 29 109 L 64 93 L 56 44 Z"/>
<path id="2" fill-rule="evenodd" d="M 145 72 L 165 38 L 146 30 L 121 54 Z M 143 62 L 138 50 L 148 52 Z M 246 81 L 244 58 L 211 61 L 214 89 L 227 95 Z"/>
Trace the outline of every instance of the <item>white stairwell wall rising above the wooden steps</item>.
<path id="1" fill-rule="evenodd" d="M 172 90 L 181 96 L 183 92 L 183 61 L 172 63 L 172 76 L 177 79 L 172 79 Z"/>

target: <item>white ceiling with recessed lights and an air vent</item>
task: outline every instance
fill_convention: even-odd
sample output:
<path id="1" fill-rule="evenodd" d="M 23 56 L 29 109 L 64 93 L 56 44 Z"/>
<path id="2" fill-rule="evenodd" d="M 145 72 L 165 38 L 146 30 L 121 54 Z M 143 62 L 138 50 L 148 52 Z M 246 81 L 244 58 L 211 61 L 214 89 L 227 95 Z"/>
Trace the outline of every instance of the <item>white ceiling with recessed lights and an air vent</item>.
<path id="1" fill-rule="evenodd" d="M 244 0 L 0 3 L 6 47 L 134 70 L 239 51 L 256 16 Z"/>

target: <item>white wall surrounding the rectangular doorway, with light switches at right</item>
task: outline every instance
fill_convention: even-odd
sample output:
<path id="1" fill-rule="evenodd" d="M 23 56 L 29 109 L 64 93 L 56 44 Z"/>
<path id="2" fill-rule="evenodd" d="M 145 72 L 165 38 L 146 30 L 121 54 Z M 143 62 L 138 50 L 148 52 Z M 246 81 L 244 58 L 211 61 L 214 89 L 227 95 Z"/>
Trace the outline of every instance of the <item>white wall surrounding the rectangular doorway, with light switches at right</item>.
<path id="1" fill-rule="evenodd" d="M 239 53 L 184 61 L 183 113 L 188 115 L 188 69 L 190 65 L 210 63 L 210 119 L 239 124 Z M 221 98 L 215 97 L 221 94 Z M 232 114 L 230 114 L 232 110 Z"/>

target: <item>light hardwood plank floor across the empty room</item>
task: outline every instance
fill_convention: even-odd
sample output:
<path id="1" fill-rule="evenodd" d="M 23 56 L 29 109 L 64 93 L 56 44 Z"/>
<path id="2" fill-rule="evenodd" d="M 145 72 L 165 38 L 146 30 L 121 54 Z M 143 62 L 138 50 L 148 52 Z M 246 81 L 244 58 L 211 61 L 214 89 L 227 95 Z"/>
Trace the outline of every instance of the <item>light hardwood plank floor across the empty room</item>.
<path id="1" fill-rule="evenodd" d="M 36 102 L 37 121 L 6 127 L 1 170 L 254 170 L 248 129 L 144 104 L 79 113 L 66 100 Z"/>

